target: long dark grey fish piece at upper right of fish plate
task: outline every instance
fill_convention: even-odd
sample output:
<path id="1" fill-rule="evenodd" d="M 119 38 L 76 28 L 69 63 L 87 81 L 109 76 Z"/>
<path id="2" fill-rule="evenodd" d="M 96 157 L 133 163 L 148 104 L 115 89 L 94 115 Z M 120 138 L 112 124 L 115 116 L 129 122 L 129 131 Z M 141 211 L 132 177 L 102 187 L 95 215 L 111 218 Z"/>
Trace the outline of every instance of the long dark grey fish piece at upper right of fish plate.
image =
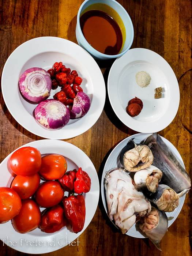
<path id="1" fill-rule="evenodd" d="M 154 157 L 153 165 L 158 167 L 163 173 L 162 184 L 168 185 L 176 193 L 191 187 L 191 180 L 187 171 L 181 166 L 160 135 L 153 133 L 143 144 L 151 149 Z"/>

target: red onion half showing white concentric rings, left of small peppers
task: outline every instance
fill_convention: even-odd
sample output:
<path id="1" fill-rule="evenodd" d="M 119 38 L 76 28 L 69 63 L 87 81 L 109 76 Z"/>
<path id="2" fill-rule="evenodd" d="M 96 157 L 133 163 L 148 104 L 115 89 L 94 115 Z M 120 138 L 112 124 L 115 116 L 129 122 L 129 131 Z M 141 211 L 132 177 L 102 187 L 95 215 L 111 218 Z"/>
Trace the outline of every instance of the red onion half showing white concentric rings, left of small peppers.
<path id="1" fill-rule="evenodd" d="M 52 88 L 50 74 L 42 68 L 29 68 L 21 75 L 19 88 L 23 96 L 30 101 L 44 101 L 50 96 Z"/>

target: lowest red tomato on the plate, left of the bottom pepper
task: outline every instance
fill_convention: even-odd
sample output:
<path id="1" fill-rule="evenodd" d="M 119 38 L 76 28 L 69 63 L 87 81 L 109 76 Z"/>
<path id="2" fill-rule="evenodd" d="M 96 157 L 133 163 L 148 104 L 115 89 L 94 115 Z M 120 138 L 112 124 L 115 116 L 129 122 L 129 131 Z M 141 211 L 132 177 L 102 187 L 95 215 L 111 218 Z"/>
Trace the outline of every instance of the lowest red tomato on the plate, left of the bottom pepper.
<path id="1" fill-rule="evenodd" d="M 19 233 L 27 233 L 36 229 L 41 222 L 41 211 L 32 199 L 22 200 L 18 215 L 12 219 L 14 229 Z"/>

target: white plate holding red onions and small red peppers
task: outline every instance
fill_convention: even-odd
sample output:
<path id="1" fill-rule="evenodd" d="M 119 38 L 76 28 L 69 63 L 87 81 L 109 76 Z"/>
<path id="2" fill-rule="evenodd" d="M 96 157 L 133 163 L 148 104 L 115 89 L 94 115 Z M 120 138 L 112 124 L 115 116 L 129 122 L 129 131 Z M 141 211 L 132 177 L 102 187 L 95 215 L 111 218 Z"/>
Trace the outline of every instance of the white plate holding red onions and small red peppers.
<path id="1" fill-rule="evenodd" d="M 83 78 L 81 86 L 90 97 L 91 107 L 82 118 L 70 120 L 59 130 L 50 130 L 35 120 L 33 112 L 38 103 L 31 104 L 22 97 L 18 81 L 29 68 L 48 70 L 60 61 Z M 5 63 L 1 87 L 5 104 L 15 120 L 28 131 L 47 139 L 69 139 L 86 132 L 98 120 L 105 104 L 105 82 L 96 61 L 79 45 L 59 37 L 34 38 L 16 48 Z M 60 90 L 60 87 L 52 90 L 49 98 Z"/>

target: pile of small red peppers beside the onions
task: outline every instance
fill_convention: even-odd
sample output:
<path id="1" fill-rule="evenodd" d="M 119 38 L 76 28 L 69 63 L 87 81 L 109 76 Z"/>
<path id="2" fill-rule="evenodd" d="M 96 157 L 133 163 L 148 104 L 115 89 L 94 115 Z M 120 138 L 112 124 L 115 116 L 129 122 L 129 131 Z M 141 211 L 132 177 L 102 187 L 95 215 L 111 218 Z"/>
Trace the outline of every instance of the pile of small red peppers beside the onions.
<path id="1" fill-rule="evenodd" d="M 80 87 L 83 79 L 78 76 L 77 71 L 71 71 L 62 62 L 56 62 L 48 72 L 52 80 L 52 89 L 57 89 L 58 86 L 61 87 L 61 91 L 56 93 L 53 98 L 58 99 L 67 106 L 73 105 L 76 94 L 79 91 L 83 91 L 82 87 Z"/>

